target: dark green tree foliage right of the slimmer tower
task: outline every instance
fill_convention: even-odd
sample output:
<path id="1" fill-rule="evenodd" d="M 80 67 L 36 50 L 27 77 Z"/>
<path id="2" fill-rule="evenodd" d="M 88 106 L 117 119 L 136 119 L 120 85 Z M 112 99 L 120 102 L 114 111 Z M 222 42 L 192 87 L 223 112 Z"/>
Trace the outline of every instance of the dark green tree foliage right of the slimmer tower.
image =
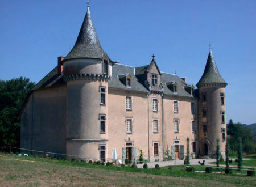
<path id="1" fill-rule="evenodd" d="M 243 152 L 248 153 L 254 149 L 254 141 L 253 136 L 251 135 L 251 129 L 246 128 L 246 126 L 243 126 L 241 123 L 234 124 L 232 120 L 229 120 L 227 128 L 230 150 L 237 151 L 239 138 L 242 140 Z"/>

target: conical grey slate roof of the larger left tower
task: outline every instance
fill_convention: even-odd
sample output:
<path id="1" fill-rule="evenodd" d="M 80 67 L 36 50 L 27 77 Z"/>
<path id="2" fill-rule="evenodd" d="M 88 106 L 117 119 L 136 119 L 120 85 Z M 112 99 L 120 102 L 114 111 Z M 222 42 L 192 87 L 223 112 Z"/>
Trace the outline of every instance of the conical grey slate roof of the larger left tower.
<path id="1" fill-rule="evenodd" d="M 105 52 L 98 41 L 88 6 L 76 44 L 67 57 L 64 58 L 64 61 L 73 58 L 102 58 L 104 54 Z"/>

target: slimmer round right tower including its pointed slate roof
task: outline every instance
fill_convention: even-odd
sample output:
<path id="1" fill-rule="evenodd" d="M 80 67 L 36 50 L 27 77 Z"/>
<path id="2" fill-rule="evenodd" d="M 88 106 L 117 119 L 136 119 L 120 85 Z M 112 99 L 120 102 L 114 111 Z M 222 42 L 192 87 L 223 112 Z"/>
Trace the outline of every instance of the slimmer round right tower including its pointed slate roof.
<path id="1" fill-rule="evenodd" d="M 196 84 L 199 88 L 199 139 L 200 154 L 214 157 L 217 139 L 220 152 L 225 155 L 226 107 L 225 87 L 227 83 L 218 72 L 210 49 L 204 73 Z"/>

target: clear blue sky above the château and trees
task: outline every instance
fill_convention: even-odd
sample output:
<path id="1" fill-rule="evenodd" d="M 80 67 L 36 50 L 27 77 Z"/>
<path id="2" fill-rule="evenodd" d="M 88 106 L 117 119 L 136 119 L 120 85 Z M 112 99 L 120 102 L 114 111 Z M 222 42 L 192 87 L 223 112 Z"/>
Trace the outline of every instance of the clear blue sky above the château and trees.
<path id="1" fill-rule="evenodd" d="M 113 61 L 150 63 L 195 84 L 212 45 L 226 87 L 226 115 L 256 122 L 255 0 L 92 0 L 101 46 Z M 0 79 L 39 82 L 76 42 L 85 0 L 0 2 Z"/>

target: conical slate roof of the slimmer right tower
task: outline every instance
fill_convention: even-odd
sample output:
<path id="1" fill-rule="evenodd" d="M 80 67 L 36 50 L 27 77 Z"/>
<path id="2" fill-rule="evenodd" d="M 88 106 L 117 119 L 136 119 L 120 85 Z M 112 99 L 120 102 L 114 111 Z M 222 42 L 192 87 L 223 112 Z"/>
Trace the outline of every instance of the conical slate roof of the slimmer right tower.
<path id="1" fill-rule="evenodd" d="M 207 63 L 205 65 L 204 74 L 202 75 L 201 79 L 196 84 L 196 86 L 199 87 L 201 84 L 207 84 L 207 83 L 227 84 L 225 80 L 221 77 L 220 73 L 218 72 L 218 68 L 214 61 L 211 49 L 208 55 Z"/>

